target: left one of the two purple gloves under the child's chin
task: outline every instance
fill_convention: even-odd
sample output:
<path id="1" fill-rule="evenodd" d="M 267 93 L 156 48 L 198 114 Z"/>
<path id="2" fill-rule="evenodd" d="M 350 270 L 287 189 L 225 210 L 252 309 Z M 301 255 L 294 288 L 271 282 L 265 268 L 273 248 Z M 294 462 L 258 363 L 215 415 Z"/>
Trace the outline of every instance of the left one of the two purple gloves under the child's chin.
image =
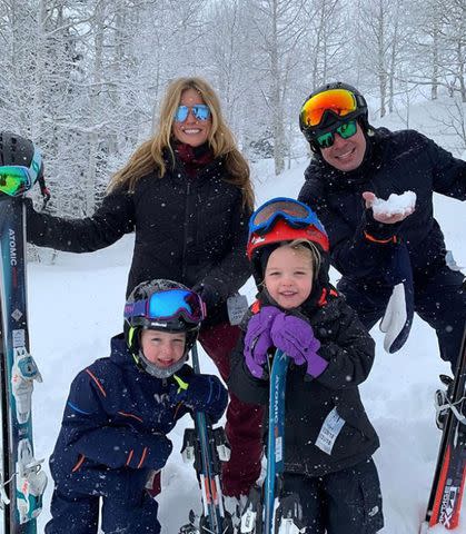
<path id="1" fill-rule="evenodd" d="M 246 365 L 252 376 L 264 377 L 264 365 L 267 362 L 267 350 L 274 346 L 270 327 L 275 317 L 281 312 L 275 306 L 265 306 L 254 315 L 248 323 L 245 336 Z"/>

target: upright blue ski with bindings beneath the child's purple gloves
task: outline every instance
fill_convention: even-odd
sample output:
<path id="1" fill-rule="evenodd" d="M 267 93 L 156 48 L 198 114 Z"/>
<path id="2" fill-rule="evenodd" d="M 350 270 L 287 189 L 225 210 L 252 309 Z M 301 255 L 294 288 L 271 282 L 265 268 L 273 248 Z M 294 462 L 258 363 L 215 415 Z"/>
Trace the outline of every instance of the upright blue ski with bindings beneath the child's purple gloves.
<path id="1" fill-rule="evenodd" d="M 299 496 L 281 497 L 285 469 L 285 395 L 289 357 L 276 350 L 270 369 L 267 469 L 262 492 L 254 487 L 241 516 L 241 534 L 299 534 Z"/>

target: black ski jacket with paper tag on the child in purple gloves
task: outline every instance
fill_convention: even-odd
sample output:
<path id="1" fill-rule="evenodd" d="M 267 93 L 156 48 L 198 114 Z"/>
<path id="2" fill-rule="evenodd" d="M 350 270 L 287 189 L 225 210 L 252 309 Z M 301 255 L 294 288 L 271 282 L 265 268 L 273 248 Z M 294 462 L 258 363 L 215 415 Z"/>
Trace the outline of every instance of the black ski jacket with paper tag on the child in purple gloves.
<path id="1" fill-rule="evenodd" d="M 259 299 L 261 306 L 270 305 L 266 295 L 261 294 Z M 309 304 L 305 303 L 299 312 L 313 326 L 321 344 L 318 354 L 329 365 L 316 379 L 309 379 L 306 366 L 298 367 L 293 363 L 289 366 L 285 406 L 285 471 L 321 476 L 369 458 L 379 446 L 358 390 L 358 385 L 366 379 L 373 366 L 375 344 L 341 296 L 328 296 L 319 307 Z M 257 304 L 251 309 L 257 313 Z M 244 402 L 267 405 L 269 380 L 255 378 L 249 373 L 244 356 L 244 336 L 231 358 L 229 390 Z M 315 443 L 325 418 L 334 408 L 345 424 L 331 454 L 327 454 Z M 265 435 L 267 421 L 266 414 Z"/>

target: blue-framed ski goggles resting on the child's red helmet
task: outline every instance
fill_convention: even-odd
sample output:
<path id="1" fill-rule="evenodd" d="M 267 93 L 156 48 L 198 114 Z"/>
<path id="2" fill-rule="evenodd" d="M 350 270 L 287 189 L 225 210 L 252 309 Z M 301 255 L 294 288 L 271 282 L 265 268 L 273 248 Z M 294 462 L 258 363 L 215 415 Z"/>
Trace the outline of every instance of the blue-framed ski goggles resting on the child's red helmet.
<path id="1" fill-rule="evenodd" d="M 305 204 L 293 198 L 274 198 L 258 208 L 249 219 L 249 234 L 267 234 L 278 219 L 293 228 L 314 225 L 325 233 L 316 214 Z"/>

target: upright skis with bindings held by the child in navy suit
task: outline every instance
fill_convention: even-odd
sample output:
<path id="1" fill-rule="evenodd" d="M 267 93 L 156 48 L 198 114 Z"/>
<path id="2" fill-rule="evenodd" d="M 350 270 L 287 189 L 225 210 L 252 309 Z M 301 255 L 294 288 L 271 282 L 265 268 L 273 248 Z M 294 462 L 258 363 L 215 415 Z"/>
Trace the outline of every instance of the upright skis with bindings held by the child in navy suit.
<path id="1" fill-rule="evenodd" d="M 197 346 L 192 347 L 192 368 L 199 374 Z M 198 475 L 202 513 L 189 513 L 189 523 L 179 534 L 234 534 L 230 514 L 225 510 L 221 491 L 221 463 L 227 462 L 230 448 L 222 427 L 212 428 L 204 412 L 196 412 L 195 429 L 185 431 L 181 449 L 185 462 L 194 462 Z"/>

